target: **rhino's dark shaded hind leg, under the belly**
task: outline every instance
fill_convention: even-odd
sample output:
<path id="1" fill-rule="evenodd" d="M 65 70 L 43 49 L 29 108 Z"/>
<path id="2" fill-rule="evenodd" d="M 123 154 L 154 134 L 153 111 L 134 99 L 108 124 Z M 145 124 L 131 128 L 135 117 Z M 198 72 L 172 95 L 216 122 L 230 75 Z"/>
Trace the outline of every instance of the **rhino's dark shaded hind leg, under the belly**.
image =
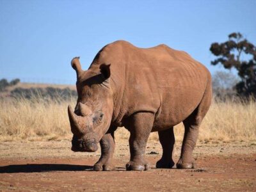
<path id="1" fill-rule="evenodd" d="M 156 168 L 172 168 L 175 164 L 173 156 L 173 147 L 175 143 L 175 137 L 173 127 L 164 131 L 158 131 L 159 141 L 163 148 L 163 155 L 156 163 Z"/>

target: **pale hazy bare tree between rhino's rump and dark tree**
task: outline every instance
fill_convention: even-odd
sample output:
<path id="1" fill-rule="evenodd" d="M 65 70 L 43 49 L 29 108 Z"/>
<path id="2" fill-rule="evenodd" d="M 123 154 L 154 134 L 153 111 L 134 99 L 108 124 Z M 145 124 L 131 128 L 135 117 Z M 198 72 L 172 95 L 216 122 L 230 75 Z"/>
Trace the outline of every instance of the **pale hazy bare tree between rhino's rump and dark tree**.
<path id="1" fill-rule="evenodd" d="M 221 100 L 234 97 L 238 81 L 238 78 L 231 72 L 217 71 L 212 76 L 212 91 Z"/>

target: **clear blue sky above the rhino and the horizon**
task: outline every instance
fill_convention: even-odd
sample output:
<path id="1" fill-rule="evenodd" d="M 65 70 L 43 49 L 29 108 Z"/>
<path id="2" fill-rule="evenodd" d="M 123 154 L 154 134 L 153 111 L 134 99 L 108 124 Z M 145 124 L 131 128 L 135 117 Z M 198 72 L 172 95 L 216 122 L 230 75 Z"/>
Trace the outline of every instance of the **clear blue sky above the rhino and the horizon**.
<path id="1" fill-rule="evenodd" d="M 76 82 L 70 60 L 87 69 L 115 40 L 138 47 L 166 44 L 214 73 L 209 47 L 241 32 L 256 43 L 256 1 L 0 0 L 0 78 Z"/>

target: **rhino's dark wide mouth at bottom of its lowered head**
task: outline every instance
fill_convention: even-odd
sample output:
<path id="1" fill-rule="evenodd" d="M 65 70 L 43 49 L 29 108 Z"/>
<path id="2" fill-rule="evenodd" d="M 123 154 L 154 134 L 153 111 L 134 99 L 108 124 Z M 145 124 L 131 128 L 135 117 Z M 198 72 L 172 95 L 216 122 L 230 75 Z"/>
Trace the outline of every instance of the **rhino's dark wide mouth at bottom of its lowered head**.
<path id="1" fill-rule="evenodd" d="M 95 152 L 98 150 L 98 143 L 92 140 L 72 140 L 71 150 L 74 152 Z"/>

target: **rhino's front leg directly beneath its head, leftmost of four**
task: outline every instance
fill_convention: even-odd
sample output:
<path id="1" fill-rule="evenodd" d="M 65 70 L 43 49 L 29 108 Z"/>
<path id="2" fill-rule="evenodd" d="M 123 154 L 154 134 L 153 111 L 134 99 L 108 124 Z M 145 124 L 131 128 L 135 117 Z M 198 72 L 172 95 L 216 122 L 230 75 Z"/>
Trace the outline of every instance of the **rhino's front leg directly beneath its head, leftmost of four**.
<path id="1" fill-rule="evenodd" d="M 95 171 L 112 171 L 115 166 L 112 164 L 112 158 L 115 151 L 114 132 L 106 133 L 100 140 L 101 156 L 97 163 L 94 164 Z"/>

